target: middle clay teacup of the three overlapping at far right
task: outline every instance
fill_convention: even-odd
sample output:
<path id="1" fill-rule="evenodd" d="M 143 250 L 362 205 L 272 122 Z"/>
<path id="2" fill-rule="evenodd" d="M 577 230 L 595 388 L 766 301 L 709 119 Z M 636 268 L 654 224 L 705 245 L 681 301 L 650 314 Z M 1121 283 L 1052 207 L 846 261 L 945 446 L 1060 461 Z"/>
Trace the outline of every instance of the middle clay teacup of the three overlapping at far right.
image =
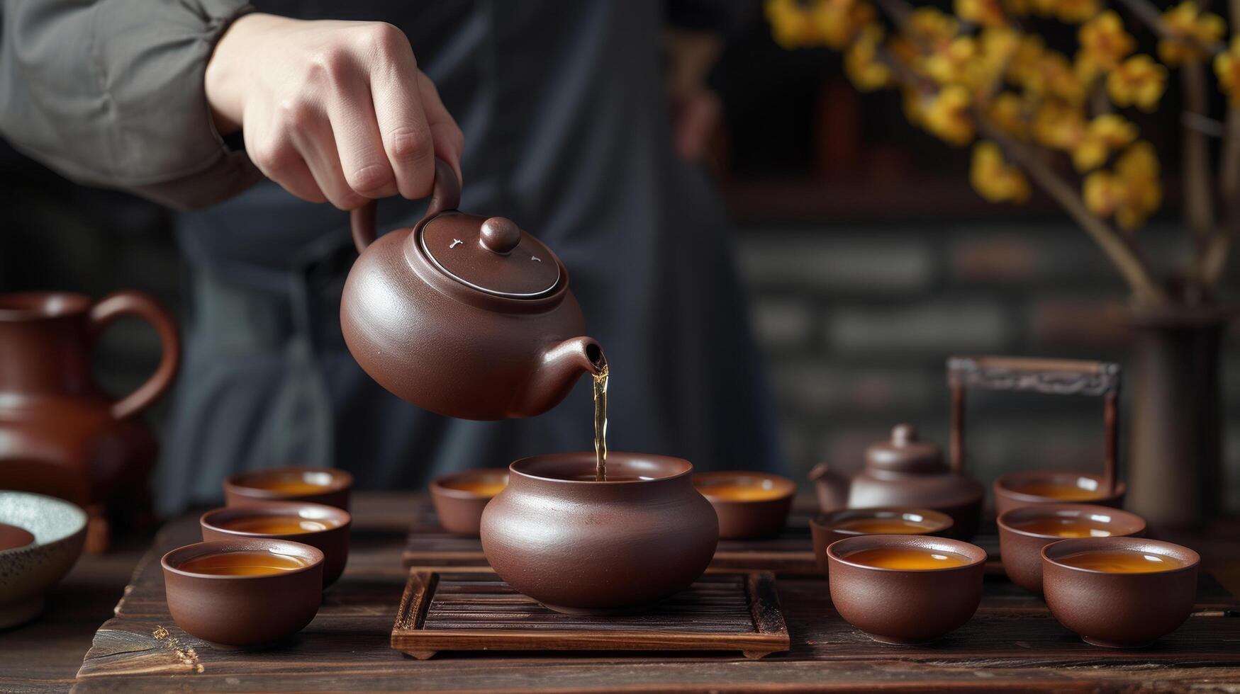
<path id="1" fill-rule="evenodd" d="M 1048 544 L 1066 538 L 1146 533 L 1146 522 L 1140 516 L 1086 503 L 1035 503 L 999 514 L 997 523 L 1003 570 L 1012 582 L 1037 594 L 1042 592 L 1042 548 Z M 1064 534 L 1078 530 L 1094 534 Z"/>

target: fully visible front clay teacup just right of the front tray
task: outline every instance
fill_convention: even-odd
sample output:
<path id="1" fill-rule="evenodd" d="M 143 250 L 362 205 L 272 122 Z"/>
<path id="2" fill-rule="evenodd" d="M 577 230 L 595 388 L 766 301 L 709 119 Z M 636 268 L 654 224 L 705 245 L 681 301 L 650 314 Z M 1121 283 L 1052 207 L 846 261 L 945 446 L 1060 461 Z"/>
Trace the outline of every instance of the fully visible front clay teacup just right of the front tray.
<path id="1" fill-rule="evenodd" d="M 873 550 L 918 550 L 957 565 L 888 569 L 859 563 Z M 827 548 L 831 601 L 839 616 L 880 643 L 926 643 L 972 618 L 982 600 L 986 550 L 928 535 L 858 535 Z M 945 563 L 947 564 L 947 563 Z"/>

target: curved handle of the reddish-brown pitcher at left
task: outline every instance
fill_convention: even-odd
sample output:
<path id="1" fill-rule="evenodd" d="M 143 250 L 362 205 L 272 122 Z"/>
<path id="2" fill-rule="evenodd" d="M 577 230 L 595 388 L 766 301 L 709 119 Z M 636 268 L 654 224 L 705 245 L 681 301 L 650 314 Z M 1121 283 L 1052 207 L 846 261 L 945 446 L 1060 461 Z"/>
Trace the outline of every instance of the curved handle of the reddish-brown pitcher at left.
<path id="1" fill-rule="evenodd" d="M 97 337 L 103 328 L 122 316 L 138 316 L 155 326 L 164 353 L 155 373 L 145 383 L 112 404 L 112 416 L 117 419 L 130 418 L 150 406 L 155 398 L 167 390 L 181 363 L 181 336 L 176 331 L 176 321 L 159 301 L 141 291 L 115 291 L 91 306 L 91 337 Z"/>

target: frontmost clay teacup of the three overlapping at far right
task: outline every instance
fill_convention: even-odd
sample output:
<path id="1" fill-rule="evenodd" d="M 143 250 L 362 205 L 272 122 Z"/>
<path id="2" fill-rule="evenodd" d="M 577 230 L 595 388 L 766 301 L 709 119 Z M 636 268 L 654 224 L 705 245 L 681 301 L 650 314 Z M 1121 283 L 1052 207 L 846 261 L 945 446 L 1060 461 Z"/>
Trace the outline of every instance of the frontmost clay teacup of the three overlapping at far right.
<path id="1" fill-rule="evenodd" d="M 1148 573 L 1111 573 L 1065 563 L 1099 550 L 1123 550 L 1174 565 Z M 1192 549 L 1161 540 L 1060 540 L 1042 549 L 1042 589 L 1050 613 L 1085 642 L 1136 648 L 1176 631 L 1192 613 L 1200 561 Z"/>

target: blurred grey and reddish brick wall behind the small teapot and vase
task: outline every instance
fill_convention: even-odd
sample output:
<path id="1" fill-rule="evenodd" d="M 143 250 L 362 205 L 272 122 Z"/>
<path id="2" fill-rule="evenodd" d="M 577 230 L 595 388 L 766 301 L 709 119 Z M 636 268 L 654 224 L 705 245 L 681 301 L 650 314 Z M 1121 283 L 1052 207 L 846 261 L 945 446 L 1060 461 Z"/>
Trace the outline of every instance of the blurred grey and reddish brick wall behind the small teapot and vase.
<path id="1" fill-rule="evenodd" d="M 1154 259 L 1180 252 L 1171 227 L 1141 234 Z M 1123 285 L 1066 222 L 745 223 L 738 263 L 785 457 L 802 482 L 820 461 L 858 468 L 866 446 L 900 421 L 946 447 L 950 354 L 1127 357 Z M 1238 337 L 1229 336 L 1223 356 L 1233 509 L 1240 508 Z M 1121 425 L 1131 394 L 1130 383 Z M 1099 399 L 971 392 L 967 415 L 968 465 L 987 485 L 1011 470 L 1101 467 Z"/>

